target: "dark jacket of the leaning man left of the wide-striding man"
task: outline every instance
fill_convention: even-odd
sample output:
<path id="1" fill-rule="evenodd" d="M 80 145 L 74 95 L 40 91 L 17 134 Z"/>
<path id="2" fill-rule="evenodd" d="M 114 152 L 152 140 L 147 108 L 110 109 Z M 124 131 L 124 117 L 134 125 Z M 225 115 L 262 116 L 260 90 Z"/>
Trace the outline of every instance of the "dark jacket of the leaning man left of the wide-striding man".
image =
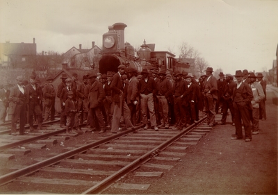
<path id="1" fill-rule="evenodd" d="M 92 83 L 92 87 L 90 87 L 90 94 L 88 96 L 88 108 L 96 108 L 97 106 L 101 105 L 104 98 L 104 87 L 98 80 L 95 80 L 95 82 Z"/>

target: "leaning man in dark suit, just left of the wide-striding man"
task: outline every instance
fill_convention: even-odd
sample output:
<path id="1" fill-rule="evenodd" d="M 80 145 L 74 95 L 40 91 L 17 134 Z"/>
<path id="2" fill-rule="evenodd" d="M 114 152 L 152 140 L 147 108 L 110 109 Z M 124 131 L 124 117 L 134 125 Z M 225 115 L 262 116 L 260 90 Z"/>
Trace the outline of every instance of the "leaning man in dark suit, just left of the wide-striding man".
<path id="1" fill-rule="evenodd" d="M 92 120 L 95 122 L 95 128 L 100 129 L 99 133 L 104 133 L 106 129 L 104 116 L 101 110 L 101 105 L 105 98 L 104 87 L 99 80 L 97 80 L 97 75 L 90 74 L 88 78 L 90 78 L 90 83 L 92 83 L 88 96 L 88 108 L 92 114 Z"/>

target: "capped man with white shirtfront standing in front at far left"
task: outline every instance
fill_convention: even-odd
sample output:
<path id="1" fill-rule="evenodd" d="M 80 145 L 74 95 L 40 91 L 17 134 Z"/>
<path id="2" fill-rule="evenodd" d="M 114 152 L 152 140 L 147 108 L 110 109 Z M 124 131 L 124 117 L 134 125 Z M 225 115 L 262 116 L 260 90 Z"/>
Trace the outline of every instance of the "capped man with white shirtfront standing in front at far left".
<path id="1" fill-rule="evenodd" d="M 24 126 L 26 122 L 26 101 L 27 96 L 23 86 L 23 76 L 17 76 L 17 85 L 10 89 L 10 105 L 8 115 L 12 115 L 11 135 L 16 135 L 17 120 L 19 119 L 19 135 L 24 135 Z"/>

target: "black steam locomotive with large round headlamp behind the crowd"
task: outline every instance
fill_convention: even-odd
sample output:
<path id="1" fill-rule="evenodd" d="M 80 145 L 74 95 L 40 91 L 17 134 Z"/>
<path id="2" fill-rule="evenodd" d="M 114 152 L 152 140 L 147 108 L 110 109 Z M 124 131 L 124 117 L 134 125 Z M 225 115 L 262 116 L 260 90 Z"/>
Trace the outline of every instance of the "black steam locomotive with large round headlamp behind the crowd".
<path id="1" fill-rule="evenodd" d="M 168 51 L 154 51 L 155 44 L 146 44 L 145 40 L 140 50 L 136 51 L 128 42 L 124 43 L 124 28 L 126 24 L 115 23 L 108 26 L 108 32 L 104 33 L 102 57 L 99 60 L 101 74 L 106 74 L 107 71 L 117 72 L 119 65 L 133 67 L 138 72 L 142 71 L 143 67 L 174 71 L 174 54 Z"/>

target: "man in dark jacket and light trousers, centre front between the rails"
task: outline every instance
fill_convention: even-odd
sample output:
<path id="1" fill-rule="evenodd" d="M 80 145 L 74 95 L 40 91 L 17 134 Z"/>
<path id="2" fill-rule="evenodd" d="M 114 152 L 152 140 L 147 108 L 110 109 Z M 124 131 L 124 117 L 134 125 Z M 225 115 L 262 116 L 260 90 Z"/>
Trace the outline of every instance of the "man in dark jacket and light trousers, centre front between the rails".
<path id="1" fill-rule="evenodd" d="M 158 130 L 156 124 L 156 111 L 154 110 L 154 96 L 157 94 L 157 86 L 154 78 L 149 77 L 147 69 L 141 71 L 142 78 L 138 83 L 138 92 L 140 93 L 140 103 L 142 112 L 142 122 L 145 124 L 145 129 L 149 128 L 147 120 L 147 110 L 149 110 L 149 120 L 154 130 Z"/>

